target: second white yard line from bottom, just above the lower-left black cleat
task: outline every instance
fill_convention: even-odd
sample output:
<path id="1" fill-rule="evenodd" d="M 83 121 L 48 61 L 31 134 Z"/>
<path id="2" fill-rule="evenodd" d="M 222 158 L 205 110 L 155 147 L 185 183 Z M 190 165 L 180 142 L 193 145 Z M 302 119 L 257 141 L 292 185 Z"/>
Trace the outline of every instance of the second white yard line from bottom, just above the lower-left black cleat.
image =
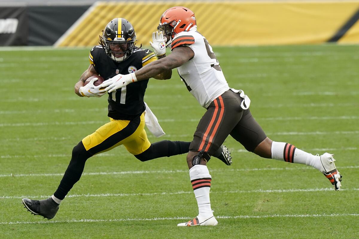
<path id="1" fill-rule="evenodd" d="M 300 189 L 300 188 L 292 188 L 292 189 L 275 189 L 275 190 L 235 190 L 235 191 L 211 191 L 213 193 L 287 193 L 287 192 L 323 192 L 323 191 L 333 191 L 332 187 L 330 188 L 308 188 L 308 189 Z M 359 191 L 359 188 L 345 188 L 340 191 Z M 180 194 L 192 194 L 193 191 L 180 191 L 180 192 L 154 192 L 154 193 L 100 193 L 100 194 L 72 194 L 66 197 L 132 197 L 132 196 L 154 196 L 154 195 L 180 195 Z M 0 196 L 0 199 L 46 199 L 51 195 L 37 195 L 37 196 Z"/>

